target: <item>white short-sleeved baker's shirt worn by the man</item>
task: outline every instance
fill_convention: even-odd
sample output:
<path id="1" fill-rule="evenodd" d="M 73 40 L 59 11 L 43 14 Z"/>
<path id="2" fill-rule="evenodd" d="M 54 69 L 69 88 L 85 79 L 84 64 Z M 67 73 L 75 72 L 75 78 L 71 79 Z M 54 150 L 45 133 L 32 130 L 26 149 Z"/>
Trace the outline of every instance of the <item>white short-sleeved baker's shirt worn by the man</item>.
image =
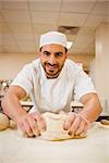
<path id="1" fill-rule="evenodd" d="M 57 78 L 46 77 L 40 59 L 23 67 L 11 85 L 22 87 L 40 113 L 61 110 L 69 112 L 72 100 L 96 92 L 90 77 L 73 61 L 66 59 Z"/>

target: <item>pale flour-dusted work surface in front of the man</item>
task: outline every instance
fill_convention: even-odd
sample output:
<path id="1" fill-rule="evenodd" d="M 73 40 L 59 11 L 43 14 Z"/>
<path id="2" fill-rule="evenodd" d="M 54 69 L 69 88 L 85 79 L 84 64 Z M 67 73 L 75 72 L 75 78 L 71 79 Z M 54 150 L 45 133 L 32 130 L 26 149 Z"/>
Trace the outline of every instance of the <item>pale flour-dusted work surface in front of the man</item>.
<path id="1" fill-rule="evenodd" d="M 47 141 L 0 131 L 0 163 L 109 163 L 109 126 L 94 123 L 84 139 Z"/>

